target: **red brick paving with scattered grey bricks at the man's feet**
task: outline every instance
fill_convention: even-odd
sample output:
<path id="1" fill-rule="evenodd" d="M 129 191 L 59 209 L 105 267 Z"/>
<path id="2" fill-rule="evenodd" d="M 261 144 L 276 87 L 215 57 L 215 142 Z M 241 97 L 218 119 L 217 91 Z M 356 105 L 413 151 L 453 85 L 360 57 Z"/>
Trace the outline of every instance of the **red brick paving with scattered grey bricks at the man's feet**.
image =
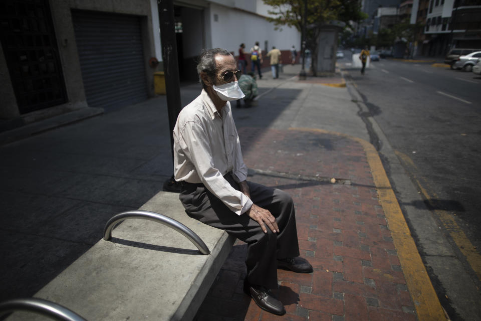
<path id="1" fill-rule="evenodd" d="M 301 256 L 314 273 L 278 270 L 287 314 L 261 310 L 242 291 L 238 242 L 196 320 L 416 320 L 363 146 L 319 132 L 239 128 L 249 180 L 292 196 Z M 330 179 L 336 178 L 335 183 Z"/>

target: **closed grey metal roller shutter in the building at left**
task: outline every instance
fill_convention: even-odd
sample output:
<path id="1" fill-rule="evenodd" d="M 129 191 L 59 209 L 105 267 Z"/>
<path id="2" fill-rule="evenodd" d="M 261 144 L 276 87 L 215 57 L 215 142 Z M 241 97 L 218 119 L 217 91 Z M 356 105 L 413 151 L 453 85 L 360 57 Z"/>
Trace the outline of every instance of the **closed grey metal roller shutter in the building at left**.
<path id="1" fill-rule="evenodd" d="M 148 98 L 140 18 L 72 11 L 87 103 L 121 107 Z"/>

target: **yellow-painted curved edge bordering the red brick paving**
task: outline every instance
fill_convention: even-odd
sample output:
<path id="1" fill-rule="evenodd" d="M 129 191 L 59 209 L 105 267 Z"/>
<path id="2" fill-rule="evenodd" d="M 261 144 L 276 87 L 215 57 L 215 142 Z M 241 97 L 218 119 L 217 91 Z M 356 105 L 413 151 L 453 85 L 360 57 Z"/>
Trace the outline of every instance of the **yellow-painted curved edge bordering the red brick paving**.
<path id="1" fill-rule="evenodd" d="M 387 178 L 381 158 L 374 146 L 364 139 L 347 134 L 314 128 L 289 128 L 289 130 L 311 131 L 331 134 L 360 143 L 366 153 L 371 168 L 374 185 L 379 194 L 379 203 L 386 215 L 389 230 L 401 262 L 406 285 L 416 308 L 419 321 L 446 320 L 446 315 L 434 291 L 416 244 L 411 236 L 406 220 Z"/>

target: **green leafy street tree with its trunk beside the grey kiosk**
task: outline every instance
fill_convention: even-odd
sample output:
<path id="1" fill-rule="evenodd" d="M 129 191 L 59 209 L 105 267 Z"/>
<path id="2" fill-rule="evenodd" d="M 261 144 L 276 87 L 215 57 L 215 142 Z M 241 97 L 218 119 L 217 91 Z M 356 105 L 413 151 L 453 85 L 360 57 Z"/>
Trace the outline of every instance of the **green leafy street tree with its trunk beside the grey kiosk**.
<path id="1" fill-rule="evenodd" d="M 307 0 L 264 0 L 266 5 L 273 7 L 269 11 L 274 17 L 267 18 L 279 26 L 295 27 L 299 32 L 303 29 L 304 1 Z M 347 25 L 349 21 L 364 19 L 358 0 L 309 0 L 307 1 L 305 49 L 311 51 L 312 72 L 317 75 L 317 56 L 319 52 L 319 35 L 323 25 L 339 20 Z"/>

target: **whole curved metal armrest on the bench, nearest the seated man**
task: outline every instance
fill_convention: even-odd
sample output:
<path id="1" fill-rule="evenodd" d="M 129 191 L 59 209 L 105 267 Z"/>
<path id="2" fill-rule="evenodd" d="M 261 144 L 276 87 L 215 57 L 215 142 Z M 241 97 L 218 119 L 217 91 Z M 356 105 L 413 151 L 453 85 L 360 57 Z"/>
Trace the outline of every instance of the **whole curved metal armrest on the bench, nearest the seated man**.
<path id="1" fill-rule="evenodd" d="M 163 224 L 165 226 L 168 226 L 186 238 L 190 240 L 200 251 L 200 253 L 204 255 L 209 255 L 210 251 L 207 245 L 202 241 L 200 237 L 198 237 L 197 234 L 195 234 L 191 229 L 189 229 L 187 226 L 183 225 L 179 221 L 176 221 L 168 216 L 165 216 L 163 214 L 155 213 L 155 212 L 150 212 L 150 211 L 127 211 L 123 213 L 119 213 L 117 215 L 114 215 L 110 220 L 108 220 L 107 224 L 105 224 L 104 228 L 104 240 L 108 241 L 112 237 L 112 229 L 113 227 L 122 221 L 125 221 L 127 219 L 145 219 L 149 221 L 154 221 L 160 224 Z"/>

